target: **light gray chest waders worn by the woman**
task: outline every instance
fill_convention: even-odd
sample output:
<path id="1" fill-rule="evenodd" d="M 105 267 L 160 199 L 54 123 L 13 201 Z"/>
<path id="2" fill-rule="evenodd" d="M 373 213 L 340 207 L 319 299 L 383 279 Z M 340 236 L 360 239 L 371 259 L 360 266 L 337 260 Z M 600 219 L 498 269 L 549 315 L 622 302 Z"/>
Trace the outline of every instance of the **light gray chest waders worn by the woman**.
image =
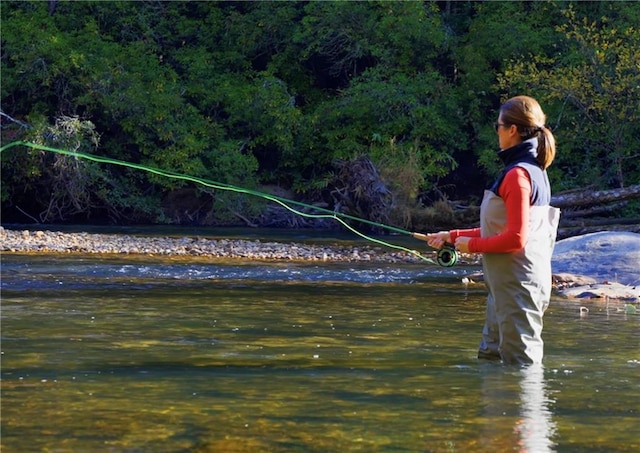
<path id="1" fill-rule="evenodd" d="M 529 217 L 528 240 L 522 250 L 482 256 L 489 296 L 479 358 L 542 362 L 542 316 L 551 297 L 551 256 L 560 210 L 531 206 Z M 482 237 L 502 233 L 506 224 L 504 200 L 485 191 L 480 208 Z"/>

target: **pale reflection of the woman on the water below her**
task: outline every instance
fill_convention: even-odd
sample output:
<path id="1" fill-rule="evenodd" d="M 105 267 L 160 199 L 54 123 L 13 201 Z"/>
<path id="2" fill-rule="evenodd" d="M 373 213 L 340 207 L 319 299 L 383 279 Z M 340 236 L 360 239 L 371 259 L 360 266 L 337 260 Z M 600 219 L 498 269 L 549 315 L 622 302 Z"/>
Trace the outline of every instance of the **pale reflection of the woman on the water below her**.
<path id="1" fill-rule="evenodd" d="M 483 375 L 483 451 L 556 451 L 556 424 L 543 365 L 488 363 Z M 481 365 L 482 367 L 482 365 Z"/>

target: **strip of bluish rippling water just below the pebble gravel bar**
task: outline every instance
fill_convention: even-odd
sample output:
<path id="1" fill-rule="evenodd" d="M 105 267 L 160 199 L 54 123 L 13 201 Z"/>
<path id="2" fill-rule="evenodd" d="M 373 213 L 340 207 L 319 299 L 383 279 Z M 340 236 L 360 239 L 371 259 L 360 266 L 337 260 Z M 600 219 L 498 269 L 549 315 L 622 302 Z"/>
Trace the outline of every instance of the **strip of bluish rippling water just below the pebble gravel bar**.
<path id="1" fill-rule="evenodd" d="M 440 268 L 433 265 L 357 265 L 345 263 L 172 264 L 130 263 L 113 259 L 40 259 L 34 262 L 3 260 L 5 290 L 88 288 L 97 282 L 114 286 L 151 285 L 166 280 L 251 280 L 263 282 L 416 283 L 433 278 L 458 280 L 473 268 Z"/>

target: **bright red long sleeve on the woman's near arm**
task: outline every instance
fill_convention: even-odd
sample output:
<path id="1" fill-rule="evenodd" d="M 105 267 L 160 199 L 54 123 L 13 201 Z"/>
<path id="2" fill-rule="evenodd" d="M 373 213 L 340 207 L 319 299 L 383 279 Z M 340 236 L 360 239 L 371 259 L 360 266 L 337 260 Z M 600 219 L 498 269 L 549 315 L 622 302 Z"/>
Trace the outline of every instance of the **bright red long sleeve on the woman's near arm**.
<path id="1" fill-rule="evenodd" d="M 498 188 L 498 195 L 504 200 L 507 209 L 506 229 L 495 236 L 471 239 L 471 252 L 511 253 L 522 250 L 527 243 L 531 207 L 529 173 L 520 167 L 510 170 Z"/>

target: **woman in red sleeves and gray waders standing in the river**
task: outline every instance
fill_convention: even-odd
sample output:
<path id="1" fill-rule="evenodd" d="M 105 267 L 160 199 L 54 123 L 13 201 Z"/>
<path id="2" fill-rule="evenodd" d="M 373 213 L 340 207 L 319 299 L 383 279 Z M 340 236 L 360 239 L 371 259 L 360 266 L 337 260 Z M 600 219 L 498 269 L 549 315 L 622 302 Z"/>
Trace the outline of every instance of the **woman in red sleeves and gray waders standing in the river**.
<path id="1" fill-rule="evenodd" d="M 479 358 L 542 362 L 542 316 L 560 217 L 549 205 L 545 170 L 555 157 L 555 139 L 545 120 L 531 97 L 505 102 L 495 124 L 504 170 L 485 191 L 480 228 L 421 235 L 434 248 L 449 242 L 461 252 L 483 254 L 489 295 Z"/>

